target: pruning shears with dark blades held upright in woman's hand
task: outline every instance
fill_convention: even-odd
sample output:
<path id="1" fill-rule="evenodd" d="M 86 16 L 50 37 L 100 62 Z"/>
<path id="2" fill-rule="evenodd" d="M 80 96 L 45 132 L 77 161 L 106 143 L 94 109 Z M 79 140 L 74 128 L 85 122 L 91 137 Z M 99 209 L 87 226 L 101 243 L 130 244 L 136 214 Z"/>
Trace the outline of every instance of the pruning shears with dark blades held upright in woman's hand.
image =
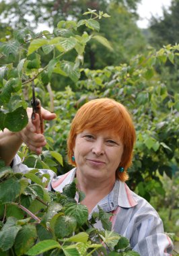
<path id="1" fill-rule="evenodd" d="M 41 103 L 40 103 L 40 100 L 36 98 L 34 81 L 32 81 L 31 105 L 32 105 L 32 116 L 31 116 L 32 123 L 34 123 L 34 119 L 36 119 L 36 114 L 38 114 L 40 118 L 40 127 L 39 127 L 40 133 L 44 133 L 44 121 L 42 119 Z"/>

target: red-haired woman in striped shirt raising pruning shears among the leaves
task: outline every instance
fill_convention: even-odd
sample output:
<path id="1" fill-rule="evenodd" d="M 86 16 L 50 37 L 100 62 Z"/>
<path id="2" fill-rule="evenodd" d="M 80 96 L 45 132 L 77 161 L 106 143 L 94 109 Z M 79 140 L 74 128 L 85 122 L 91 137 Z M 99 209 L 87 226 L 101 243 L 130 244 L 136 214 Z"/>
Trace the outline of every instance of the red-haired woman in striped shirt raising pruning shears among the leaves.
<path id="1" fill-rule="evenodd" d="M 30 131 L 35 127 L 29 124 L 18 133 L 16 141 L 19 137 L 19 143 L 25 141 L 32 149 L 37 146 L 40 152 L 39 147 L 44 146 L 45 141 L 43 135 Z M 89 218 L 98 211 L 98 205 L 114 214 L 113 230 L 129 238 L 131 247 L 141 256 L 171 255 L 173 245 L 164 234 L 157 212 L 124 183 L 128 179 L 134 143 L 135 128 L 127 109 L 112 99 L 92 100 L 79 108 L 71 124 L 67 146 L 69 162 L 75 168 L 60 177 L 55 177 L 50 170 L 41 171 L 50 174 L 48 189 L 59 192 L 77 177 L 77 187 L 85 193 L 81 203 L 87 206 Z M 13 160 L 13 169 L 28 171 L 18 156 Z M 96 227 L 102 228 L 100 222 Z"/>

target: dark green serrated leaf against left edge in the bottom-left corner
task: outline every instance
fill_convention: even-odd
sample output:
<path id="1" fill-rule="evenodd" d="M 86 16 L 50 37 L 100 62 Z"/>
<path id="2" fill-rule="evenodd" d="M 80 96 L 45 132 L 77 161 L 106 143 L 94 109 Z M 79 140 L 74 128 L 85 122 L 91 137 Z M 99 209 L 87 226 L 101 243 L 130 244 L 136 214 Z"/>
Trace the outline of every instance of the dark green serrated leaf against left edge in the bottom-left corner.
<path id="1" fill-rule="evenodd" d="M 0 248 L 2 251 L 7 251 L 13 246 L 15 236 L 20 231 L 21 226 L 9 226 L 3 228 L 0 232 Z"/>

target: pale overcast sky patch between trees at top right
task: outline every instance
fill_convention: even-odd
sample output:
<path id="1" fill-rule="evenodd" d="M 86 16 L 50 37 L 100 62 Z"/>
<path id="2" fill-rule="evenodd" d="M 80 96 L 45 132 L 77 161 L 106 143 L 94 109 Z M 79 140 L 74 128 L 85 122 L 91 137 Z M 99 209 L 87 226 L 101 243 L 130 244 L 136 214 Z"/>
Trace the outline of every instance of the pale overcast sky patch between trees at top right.
<path id="1" fill-rule="evenodd" d="M 138 5 L 138 13 L 141 17 L 137 25 L 140 28 L 147 28 L 151 15 L 161 17 L 162 6 L 166 9 L 170 6 L 172 0 L 142 0 Z"/>

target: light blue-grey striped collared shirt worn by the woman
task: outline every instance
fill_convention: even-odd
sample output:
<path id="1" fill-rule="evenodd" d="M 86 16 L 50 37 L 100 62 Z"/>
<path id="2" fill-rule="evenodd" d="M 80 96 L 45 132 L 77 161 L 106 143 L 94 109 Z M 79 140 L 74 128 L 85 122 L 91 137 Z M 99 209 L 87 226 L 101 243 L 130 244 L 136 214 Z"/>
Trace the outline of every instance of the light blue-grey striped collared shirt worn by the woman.
<path id="1" fill-rule="evenodd" d="M 18 156 L 13 161 L 15 172 L 28 172 L 29 168 L 20 162 Z M 40 170 L 50 174 L 49 190 L 62 192 L 65 185 L 75 179 L 76 168 L 59 177 L 52 170 Z M 75 197 L 77 200 L 77 195 Z M 173 244 L 164 233 L 162 220 L 155 209 L 143 197 L 135 194 L 126 183 L 116 180 L 112 191 L 98 205 L 104 212 L 112 213 L 112 230 L 129 239 L 133 251 L 141 256 L 172 256 Z M 98 205 L 89 214 L 89 220 Z M 96 228 L 103 229 L 98 221 Z"/>

